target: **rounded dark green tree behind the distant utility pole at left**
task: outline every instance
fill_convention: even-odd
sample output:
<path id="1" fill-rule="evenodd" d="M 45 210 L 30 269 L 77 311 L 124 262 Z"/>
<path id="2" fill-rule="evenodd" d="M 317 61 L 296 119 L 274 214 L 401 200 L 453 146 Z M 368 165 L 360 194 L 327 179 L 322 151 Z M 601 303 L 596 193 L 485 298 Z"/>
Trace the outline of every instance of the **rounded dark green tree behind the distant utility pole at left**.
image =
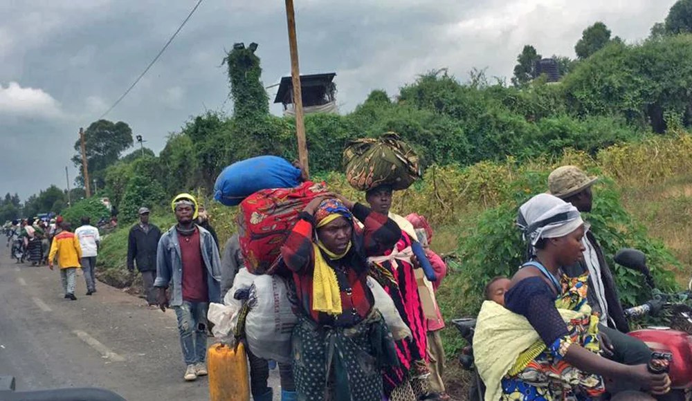
<path id="1" fill-rule="evenodd" d="M 118 161 L 120 154 L 132 146 L 132 129 L 122 121 L 98 120 L 92 122 L 86 129 L 84 142 L 89 178 L 97 180 L 98 186 L 103 187 L 106 168 Z M 81 149 L 81 143 L 78 140 L 75 142 L 77 154 L 73 156 L 72 162 L 75 166 L 80 167 L 80 176 L 75 181 L 83 185 Z"/>

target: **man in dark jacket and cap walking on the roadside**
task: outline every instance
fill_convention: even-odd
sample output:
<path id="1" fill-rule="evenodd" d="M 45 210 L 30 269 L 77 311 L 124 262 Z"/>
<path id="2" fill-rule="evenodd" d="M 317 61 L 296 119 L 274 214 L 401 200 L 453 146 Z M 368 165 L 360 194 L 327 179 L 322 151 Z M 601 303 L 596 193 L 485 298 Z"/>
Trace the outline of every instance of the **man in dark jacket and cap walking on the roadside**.
<path id="1" fill-rule="evenodd" d="M 149 209 L 140 207 L 139 223 L 133 225 L 129 233 L 127 269 L 134 271 L 135 261 L 137 262 L 137 269 L 142 273 L 144 294 L 149 306 L 156 305 L 154 280 L 156 280 L 156 247 L 159 239 L 161 239 L 161 230 L 149 223 Z"/>

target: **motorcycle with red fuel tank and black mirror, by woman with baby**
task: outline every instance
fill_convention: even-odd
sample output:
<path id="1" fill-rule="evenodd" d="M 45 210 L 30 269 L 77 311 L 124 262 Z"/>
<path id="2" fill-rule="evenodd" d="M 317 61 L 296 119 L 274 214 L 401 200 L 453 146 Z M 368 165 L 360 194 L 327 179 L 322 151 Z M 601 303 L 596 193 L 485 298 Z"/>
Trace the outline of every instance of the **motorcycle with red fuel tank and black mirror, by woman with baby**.
<path id="1" fill-rule="evenodd" d="M 651 272 L 646 266 L 646 255 L 643 252 L 622 249 L 617 252 L 614 261 L 625 268 L 641 272 L 655 295 L 654 299 L 646 304 L 626 309 L 625 315 L 628 319 L 660 312 L 670 322 L 670 326 L 650 326 L 628 333 L 632 337 L 641 339 L 653 352 L 658 353 L 658 356 L 670 357 L 668 375 L 671 378 L 671 391 L 657 396 L 657 400 L 692 401 L 692 308 L 689 306 L 692 302 L 692 280 L 687 291 L 665 294 L 656 290 Z M 473 373 L 468 400 L 483 401 L 485 385 L 475 369 L 473 359 L 473 334 L 476 319 L 469 317 L 453 319 L 452 324 L 468 344 L 462 348 L 462 353 L 459 355 L 459 364 L 462 368 Z"/>

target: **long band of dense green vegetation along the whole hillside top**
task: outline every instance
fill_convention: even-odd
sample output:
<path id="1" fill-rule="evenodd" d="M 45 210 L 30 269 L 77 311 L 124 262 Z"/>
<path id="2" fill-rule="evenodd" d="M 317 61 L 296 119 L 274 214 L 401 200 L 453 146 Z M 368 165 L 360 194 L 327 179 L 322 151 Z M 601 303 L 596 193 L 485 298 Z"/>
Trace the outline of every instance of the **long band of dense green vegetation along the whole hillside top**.
<path id="1" fill-rule="evenodd" d="M 605 26 L 594 24 L 580 43 L 594 53 L 579 62 L 555 56 L 570 71 L 558 84 L 542 77 L 529 82 L 540 56 L 527 46 L 519 60 L 526 80 L 517 86 L 491 82 L 482 71 L 461 82 L 443 69 L 419 76 L 393 98 L 373 91 L 352 113 L 309 115 L 311 171 L 334 171 L 349 140 L 385 131 L 396 131 L 412 144 L 424 167 L 464 167 L 507 156 L 518 162 L 559 157 L 567 147 L 595 156 L 613 144 L 691 124 L 692 35 L 662 35 L 630 45 L 610 39 Z M 158 156 L 133 152 L 113 161 L 131 141 L 127 124 L 100 121 L 89 127 L 93 132 L 120 129 L 119 142 L 103 144 L 113 149 L 91 158 L 102 180 L 99 187 L 121 219 L 132 221 L 138 205 L 162 205 L 176 192 L 210 192 L 221 169 L 237 160 L 260 154 L 296 158 L 294 120 L 267 113 L 259 58 L 249 49 L 234 49 L 226 63 L 234 115 L 209 111 L 191 118 Z M 111 162 L 101 167 L 106 158 Z"/>

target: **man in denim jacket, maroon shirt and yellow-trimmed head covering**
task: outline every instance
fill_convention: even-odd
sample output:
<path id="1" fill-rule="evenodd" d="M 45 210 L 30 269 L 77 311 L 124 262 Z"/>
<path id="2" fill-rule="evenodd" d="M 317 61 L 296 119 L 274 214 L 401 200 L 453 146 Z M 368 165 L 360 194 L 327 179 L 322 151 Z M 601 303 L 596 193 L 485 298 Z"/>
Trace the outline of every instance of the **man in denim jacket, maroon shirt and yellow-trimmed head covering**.
<path id="1" fill-rule="evenodd" d="M 178 318 L 183 359 L 188 366 L 185 380 L 207 374 L 207 310 L 209 302 L 220 302 L 221 261 L 212 234 L 197 224 L 197 201 L 190 194 L 173 199 L 178 224 L 161 236 L 156 253 L 158 306 L 170 306 Z"/>

